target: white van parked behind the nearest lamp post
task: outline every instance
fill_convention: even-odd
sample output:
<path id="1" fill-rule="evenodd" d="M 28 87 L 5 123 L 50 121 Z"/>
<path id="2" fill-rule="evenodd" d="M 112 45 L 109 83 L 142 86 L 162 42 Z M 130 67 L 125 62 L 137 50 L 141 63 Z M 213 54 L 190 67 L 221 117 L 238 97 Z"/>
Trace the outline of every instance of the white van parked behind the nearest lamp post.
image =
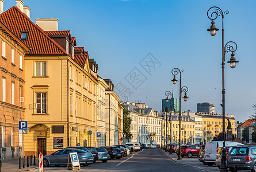
<path id="1" fill-rule="evenodd" d="M 223 141 L 212 141 L 212 142 L 207 142 L 205 144 L 204 162 L 208 166 L 212 166 L 215 164 L 215 160 L 217 158 L 216 157 L 217 150 L 219 147 L 222 147 L 222 145 L 223 145 Z M 225 146 L 237 146 L 237 145 L 243 145 L 243 144 L 238 142 L 230 142 L 230 141 L 225 142 Z"/>

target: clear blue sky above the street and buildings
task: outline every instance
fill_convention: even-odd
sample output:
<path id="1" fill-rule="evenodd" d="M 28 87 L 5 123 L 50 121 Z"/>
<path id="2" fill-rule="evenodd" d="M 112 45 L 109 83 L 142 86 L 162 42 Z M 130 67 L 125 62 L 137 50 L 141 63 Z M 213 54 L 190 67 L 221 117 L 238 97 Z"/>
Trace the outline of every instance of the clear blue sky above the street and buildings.
<path id="1" fill-rule="evenodd" d="M 182 85 L 189 88 L 189 100 L 182 111 L 197 111 L 197 103 L 215 104 L 221 114 L 221 32 L 210 36 L 207 10 L 219 6 L 230 13 L 224 18 L 224 41 L 238 44 L 239 63 L 226 63 L 226 114 L 243 121 L 254 114 L 255 93 L 255 8 L 256 1 L 35 1 L 24 0 L 30 18 L 58 18 L 59 30 L 71 30 L 77 46 L 85 46 L 99 65 L 99 75 L 116 86 L 122 81 L 133 92 L 129 101 L 146 102 L 161 110 L 165 91 L 178 98 L 171 69 L 182 72 Z M 16 5 L 4 2 L 4 10 Z M 221 29 L 221 18 L 216 19 Z M 139 62 L 151 53 L 160 63 L 147 73 Z M 227 60 L 230 53 L 227 54 Z M 226 61 L 227 61 L 226 60 Z M 147 78 L 137 89 L 125 76 L 137 67 Z"/>

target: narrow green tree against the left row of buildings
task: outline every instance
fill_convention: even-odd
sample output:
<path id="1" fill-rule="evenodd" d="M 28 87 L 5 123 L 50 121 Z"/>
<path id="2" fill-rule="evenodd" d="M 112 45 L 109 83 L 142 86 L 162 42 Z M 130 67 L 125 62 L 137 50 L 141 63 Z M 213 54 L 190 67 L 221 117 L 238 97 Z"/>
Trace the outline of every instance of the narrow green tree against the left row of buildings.
<path id="1" fill-rule="evenodd" d="M 129 139 L 132 136 L 132 134 L 131 134 L 132 118 L 130 118 L 128 116 L 129 111 L 127 110 L 127 108 L 125 108 L 125 106 L 123 104 L 122 104 L 122 106 L 124 107 L 124 110 L 123 110 L 123 134 L 124 134 L 124 138 Z"/>

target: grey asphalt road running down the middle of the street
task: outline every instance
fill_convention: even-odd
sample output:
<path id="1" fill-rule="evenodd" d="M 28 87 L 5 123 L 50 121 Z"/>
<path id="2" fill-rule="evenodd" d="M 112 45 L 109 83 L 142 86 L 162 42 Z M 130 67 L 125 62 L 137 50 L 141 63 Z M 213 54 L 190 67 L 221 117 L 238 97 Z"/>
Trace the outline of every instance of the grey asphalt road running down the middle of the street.
<path id="1" fill-rule="evenodd" d="M 64 171 L 66 166 L 50 166 L 44 167 L 44 171 Z M 37 172 L 38 170 L 33 170 Z M 200 172 L 203 170 L 182 165 L 180 163 L 172 161 L 165 153 L 160 149 L 145 149 L 137 153 L 133 152 L 128 157 L 121 158 L 119 160 L 113 159 L 106 163 L 96 162 L 87 167 L 81 167 L 81 171 L 189 171 Z"/>

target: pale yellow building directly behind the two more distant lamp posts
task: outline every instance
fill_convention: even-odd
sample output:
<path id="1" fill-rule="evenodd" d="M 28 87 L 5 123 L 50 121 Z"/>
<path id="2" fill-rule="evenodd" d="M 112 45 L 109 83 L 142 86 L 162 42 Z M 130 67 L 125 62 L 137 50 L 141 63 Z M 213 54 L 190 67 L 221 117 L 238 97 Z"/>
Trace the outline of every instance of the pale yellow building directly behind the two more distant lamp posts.
<path id="1" fill-rule="evenodd" d="M 170 114 L 167 115 L 167 130 L 166 130 L 166 118 L 163 114 L 162 121 L 162 135 L 165 133 L 167 135 L 167 144 L 170 143 L 170 122 L 169 122 Z M 172 114 L 171 120 L 171 143 L 179 143 L 179 114 Z M 195 123 L 194 120 L 190 119 L 188 115 L 181 115 L 181 144 L 195 144 Z M 167 132 L 165 132 L 165 130 Z M 165 144 L 165 138 L 162 140 L 163 145 Z"/>

